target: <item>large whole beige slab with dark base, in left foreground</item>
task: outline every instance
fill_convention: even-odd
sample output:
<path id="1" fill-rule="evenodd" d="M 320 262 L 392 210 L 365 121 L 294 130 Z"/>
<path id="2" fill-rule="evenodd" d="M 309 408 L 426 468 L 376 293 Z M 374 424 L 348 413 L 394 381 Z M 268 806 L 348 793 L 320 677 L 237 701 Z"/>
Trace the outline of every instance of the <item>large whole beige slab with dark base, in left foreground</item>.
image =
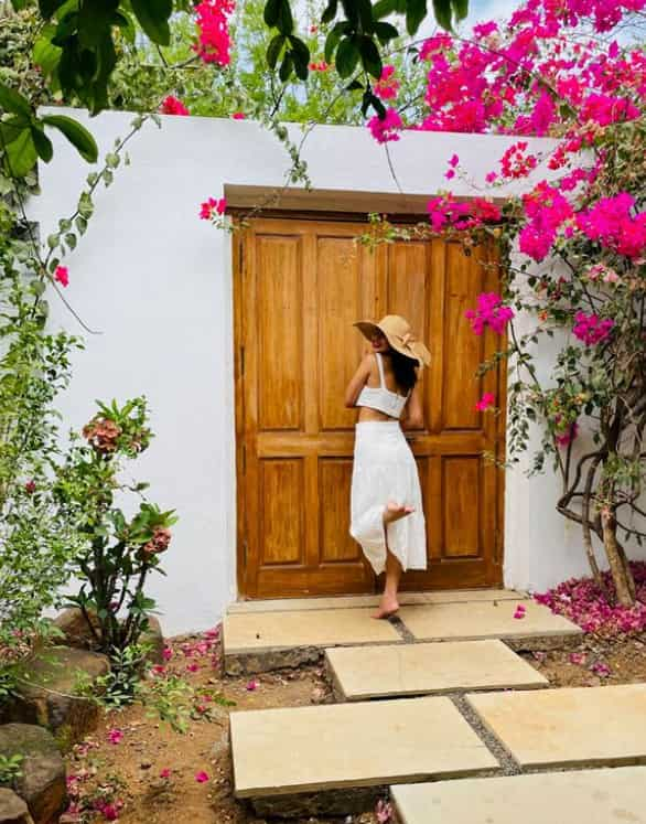
<path id="1" fill-rule="evenodd" d="M 334 813 L 349 814 L 360 788 L 377 793 L 387 784 L 497 768 L 449 698 L 233 713 L 230 732 L 235 794 L 250 799 L 262 817 L 286 809 L 330 814 L 326 791 Z"/>

